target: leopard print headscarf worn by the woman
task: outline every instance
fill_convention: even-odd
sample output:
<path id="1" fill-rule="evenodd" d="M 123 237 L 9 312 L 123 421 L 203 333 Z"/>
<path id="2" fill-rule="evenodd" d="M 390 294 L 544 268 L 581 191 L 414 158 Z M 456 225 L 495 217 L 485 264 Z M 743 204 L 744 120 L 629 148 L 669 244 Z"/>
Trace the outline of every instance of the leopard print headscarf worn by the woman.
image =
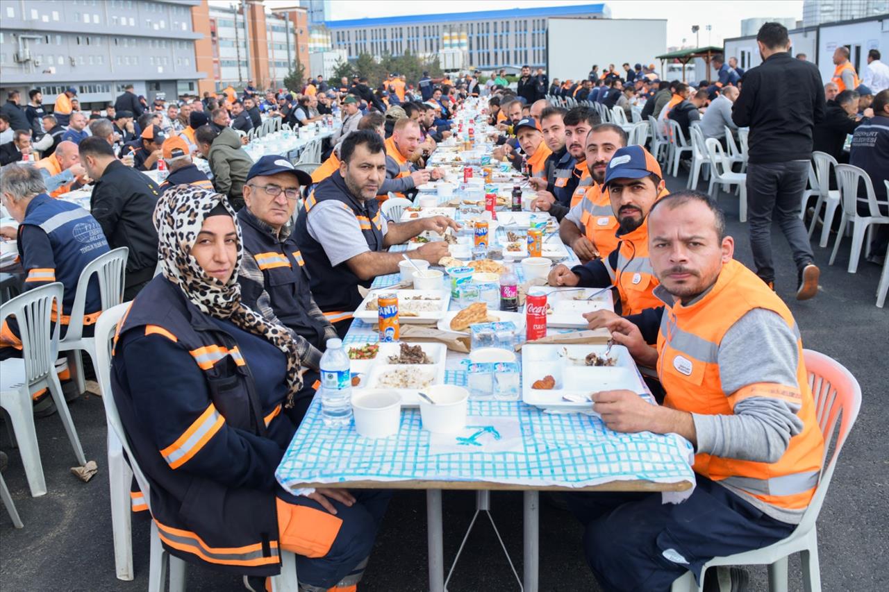
<path id="1" fill-rule="evenodd" d="M 204 219 L 219 204 L 224 205 L 232 220 L 235 220 L 237 233 L 235 269 L 225 284 L 208 276 L 191 255 Z M 235 211 L 228 204 L 226 196 L 192 185 L 176 185 L 164 191 L 157 200 L 154 223 L 158 238 L 157 254 L 164 277 L 177 284 L 185 292 L 185 297 L 207 315 L 228 319 L 244 331 L 267 339 L 284 352 L 289 388 L 285 406 L 292 407 L 293 397 L 302 388 L 296 342 L 284 326 L 269 322 L 241 302 L 237 272 L 241 267 L 244 243 Z"/>

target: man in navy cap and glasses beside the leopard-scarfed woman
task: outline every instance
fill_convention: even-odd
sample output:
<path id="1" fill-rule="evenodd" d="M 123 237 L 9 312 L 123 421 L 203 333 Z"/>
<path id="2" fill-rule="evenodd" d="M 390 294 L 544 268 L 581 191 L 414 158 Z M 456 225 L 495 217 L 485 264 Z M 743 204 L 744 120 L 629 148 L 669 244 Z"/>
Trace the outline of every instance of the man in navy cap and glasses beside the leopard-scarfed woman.
<path id="1" fill-rule="evenodd" d="M 333 325 L 312 298 L 308 270 L 294 236 L 292 216 L 300 189 L 310 185 L 308 172 L 284 156 L 263 156 L 253 164 L 244 184 L 244 208 L 237 212 L 244 239 L 238 272 L 241 300 L 268 320 L 292 333 L 302 364 L 309 368 L 296 397 L 295 412 L 306 412 L 315 394 L 324 344 L 335 339 Z"/>

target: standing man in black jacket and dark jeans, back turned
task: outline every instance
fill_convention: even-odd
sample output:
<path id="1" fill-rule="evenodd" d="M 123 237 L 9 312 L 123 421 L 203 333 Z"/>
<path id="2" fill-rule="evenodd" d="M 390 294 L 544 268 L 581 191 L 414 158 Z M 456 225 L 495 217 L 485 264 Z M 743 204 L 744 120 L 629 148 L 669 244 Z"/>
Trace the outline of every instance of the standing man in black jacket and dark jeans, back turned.
<path id="1" fill-rule="evenodd" d="M 750 128 L 747 204 L 757 276 L 774 288 L 774 213 L 797 264 L 797 300 L 807 300 L 818 292 L 820 272 L 799 209 L 812 157 L 813 127 L 824 119 L 824 90 L 818 68 L 794 60 L 789 44 L 787 28 L 781 24 L 767 22 L 759 29 L 763 63 L 744 74 L 732 120 L 738 127 Z"/>

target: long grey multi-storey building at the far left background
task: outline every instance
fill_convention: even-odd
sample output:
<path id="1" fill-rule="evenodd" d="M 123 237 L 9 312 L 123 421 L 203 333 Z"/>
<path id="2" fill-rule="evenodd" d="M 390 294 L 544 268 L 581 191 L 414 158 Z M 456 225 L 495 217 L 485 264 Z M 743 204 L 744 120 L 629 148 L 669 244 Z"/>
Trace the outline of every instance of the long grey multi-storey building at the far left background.
<path id="1" fill-rule="evenodd" d="M 196 11 L 206 0 L 0 0 L 0 86 L 39 88 L 47 102 L 68 86 L 82 107 L 133 84 L 153 100 L 196 94 Z"/>

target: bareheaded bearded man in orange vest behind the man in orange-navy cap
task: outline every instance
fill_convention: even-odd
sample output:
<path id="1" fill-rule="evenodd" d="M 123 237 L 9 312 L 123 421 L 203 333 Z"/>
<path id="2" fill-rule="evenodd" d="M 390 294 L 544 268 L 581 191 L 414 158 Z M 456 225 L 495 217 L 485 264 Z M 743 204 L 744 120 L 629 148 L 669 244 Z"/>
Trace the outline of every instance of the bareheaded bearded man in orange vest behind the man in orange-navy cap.
<path id="1" fill-rule="evenodd" d="M 617 248 L 618 220 L 605 191 L 605 171 L 614 152 L 627 145 L 627 132 L 615 124 L 598 124 L 587 135 L 585 164 L 593 184 L 587 188 L 559 225 L 562 242 L 570 245 L 581 261 L 607 258 Z"/>

